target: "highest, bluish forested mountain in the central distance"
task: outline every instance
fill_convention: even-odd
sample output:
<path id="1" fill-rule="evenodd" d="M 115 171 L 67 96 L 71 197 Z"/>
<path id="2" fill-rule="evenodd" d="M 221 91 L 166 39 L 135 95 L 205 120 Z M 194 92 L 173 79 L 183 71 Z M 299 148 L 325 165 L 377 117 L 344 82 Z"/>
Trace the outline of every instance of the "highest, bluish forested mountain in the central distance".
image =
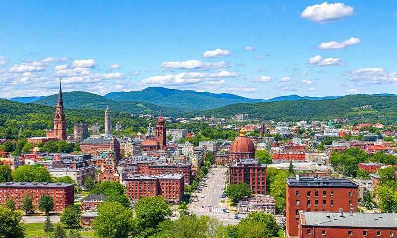
<path id="1" fill-rule="evenodd" d="M 139 101 L 155 105 L 181 108 L 185 111 L 222 107 L 234 103 L 255 103 L 265 100 L 250 99 L 230 93 L 196 92 L 192 90 L 149 87 L 141 91 L 112 92 L 105 95 L 115 101 Z"/>

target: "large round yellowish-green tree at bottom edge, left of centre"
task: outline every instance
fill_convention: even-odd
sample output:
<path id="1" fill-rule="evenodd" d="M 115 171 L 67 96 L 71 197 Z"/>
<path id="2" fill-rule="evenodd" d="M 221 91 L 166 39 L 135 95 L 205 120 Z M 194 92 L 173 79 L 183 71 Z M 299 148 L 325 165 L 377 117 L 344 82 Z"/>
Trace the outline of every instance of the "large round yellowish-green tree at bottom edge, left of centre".
<path id="1" fill-rule="evenodd" d="M 132 231 L 132 211 L 118 202 L 102 202 L 93 228 L 98 238 L 127 238 Z"/>

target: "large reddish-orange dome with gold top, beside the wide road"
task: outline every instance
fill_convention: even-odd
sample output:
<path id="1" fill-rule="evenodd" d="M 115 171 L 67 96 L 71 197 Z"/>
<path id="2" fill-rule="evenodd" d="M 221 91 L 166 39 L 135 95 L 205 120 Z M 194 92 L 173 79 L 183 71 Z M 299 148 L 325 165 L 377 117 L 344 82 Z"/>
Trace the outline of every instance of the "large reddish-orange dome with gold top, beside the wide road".
<path id="1" fill-rule="evenodd" d="M 229 148 L 230 161 L 238 162 L 242 159 L 255 158 L 254 143 L 245 135 L 245 128 L 241 128 L 240 135 L 233 140 Z"/>

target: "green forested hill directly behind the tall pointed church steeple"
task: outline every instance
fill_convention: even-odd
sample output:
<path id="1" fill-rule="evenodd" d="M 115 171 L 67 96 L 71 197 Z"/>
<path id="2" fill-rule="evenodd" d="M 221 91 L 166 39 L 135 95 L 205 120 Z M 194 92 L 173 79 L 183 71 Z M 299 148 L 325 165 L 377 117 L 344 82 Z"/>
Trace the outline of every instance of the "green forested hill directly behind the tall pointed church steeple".
<path id="1" fill-rule="evenodd" d="M 87 108 L 105 110 L 107 106 L 111 111 L 120 111 L 134 114 L 153 114 L 158 115 L 160 111 L 164 112 L 166 116 L 177 116 L 181 113 L 180 109 L 168 108 L 164 106 L 157 106 L 151 103 L 125 101 L 118 102 L 101 95 L 88 92 L 67 92 L 62 93 L 65 108 Z M 55 106 L 57 104 L 58 94 L 54 94 L 43 99 L 37 100 L 34 103 L 43 104 L 47 106 Z"/>

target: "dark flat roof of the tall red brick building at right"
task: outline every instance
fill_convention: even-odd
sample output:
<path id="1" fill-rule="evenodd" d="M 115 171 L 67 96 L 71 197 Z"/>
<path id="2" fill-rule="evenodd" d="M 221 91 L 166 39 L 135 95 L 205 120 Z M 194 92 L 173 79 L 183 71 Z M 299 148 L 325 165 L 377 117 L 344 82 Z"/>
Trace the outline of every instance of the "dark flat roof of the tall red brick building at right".
<path id="1" fill-rule="evenodd" d="M 287 184 L 290 187 L 349 187 L 358 188 L 358 185 L 344 178 L 311 178 L 300 177 L 299 181 L 296 178 L 287 178 Z"/>

